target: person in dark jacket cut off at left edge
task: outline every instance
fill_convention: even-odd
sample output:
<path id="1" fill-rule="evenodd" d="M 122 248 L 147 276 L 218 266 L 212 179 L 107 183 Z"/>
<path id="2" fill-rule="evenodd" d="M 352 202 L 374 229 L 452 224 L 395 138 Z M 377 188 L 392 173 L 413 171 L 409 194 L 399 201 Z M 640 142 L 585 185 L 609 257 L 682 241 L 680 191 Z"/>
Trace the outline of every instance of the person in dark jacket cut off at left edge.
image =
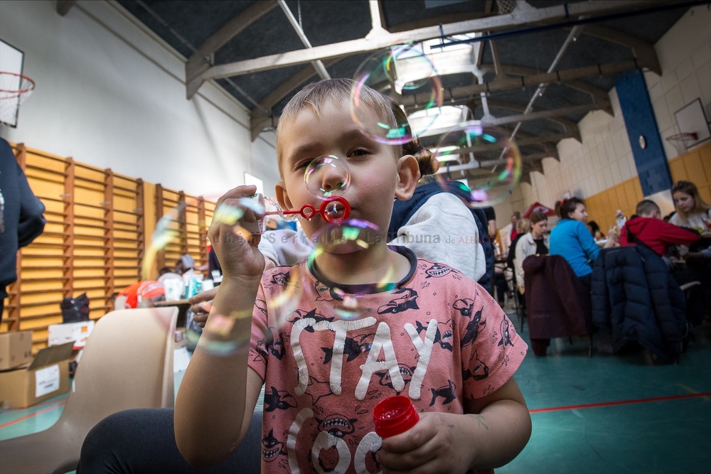
<path id="1" fill-rule="evenodd" d="M 44 230 L 44 210 L 10 144 L 0 139 L 0 319 L 7 298 L 6 286 L 17 280 L 17 251 Z"/>

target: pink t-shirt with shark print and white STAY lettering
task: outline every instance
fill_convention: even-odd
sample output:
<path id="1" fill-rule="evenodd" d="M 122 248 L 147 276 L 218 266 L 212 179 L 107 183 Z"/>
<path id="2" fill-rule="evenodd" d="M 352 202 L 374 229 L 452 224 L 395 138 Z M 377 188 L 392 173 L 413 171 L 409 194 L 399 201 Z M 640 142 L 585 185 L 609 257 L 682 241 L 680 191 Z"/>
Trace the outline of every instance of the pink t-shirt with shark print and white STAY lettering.
<path id="1" fill-rule="evenodd" d="M 264 274 L 250 367 L 264 379 L 262 473 L 378 473 L 373 406 L 463 413 L 528 346 L 498 303 L 449 266 L 415 259 L 389 287 L 336 285 L 306 262 Z"/>

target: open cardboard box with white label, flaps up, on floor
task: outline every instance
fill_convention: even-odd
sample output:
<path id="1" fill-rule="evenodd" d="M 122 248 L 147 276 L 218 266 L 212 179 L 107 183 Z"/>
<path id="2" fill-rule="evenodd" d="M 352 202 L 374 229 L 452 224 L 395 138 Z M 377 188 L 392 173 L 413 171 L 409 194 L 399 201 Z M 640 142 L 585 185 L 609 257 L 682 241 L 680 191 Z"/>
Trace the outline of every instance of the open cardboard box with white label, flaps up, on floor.
<path id="1" fill-rule="evenodd" d="M 67 392 L 73 345 L 41 349 L 28 367 L 0 372 L 0 407 L 26 408 Z"/>

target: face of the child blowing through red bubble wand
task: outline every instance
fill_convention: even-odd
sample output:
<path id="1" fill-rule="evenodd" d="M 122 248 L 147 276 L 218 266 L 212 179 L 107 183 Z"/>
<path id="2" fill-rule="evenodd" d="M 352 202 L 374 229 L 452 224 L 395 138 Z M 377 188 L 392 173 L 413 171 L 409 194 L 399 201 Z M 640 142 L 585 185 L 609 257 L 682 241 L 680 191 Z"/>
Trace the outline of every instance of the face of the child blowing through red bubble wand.
<path id="1" fill-rule="evenodd" d="M 373 127 L 378 117 L 371 113 Z M 392 212 L 392 199 L 410 199 L 417 184 L 417 161 L 410 155 L 396 157 L 394 148 L 365 136 L 353 122 L 348 104 L 334 99 L 326 101 L 316 114 L 304 107 L 280 132 L 282 142 L 282 175 L 277 184 L 277 200 L 284 209 L 300 209 L 311 204 L 318 209 L 321 200 L 306 188 L 304 171 L 309 163 L 324 155 L 334 155 L 348 163 L 351 185 L 343 198 L 351 204 L 351 219 L 371 222 L 385 235 Z M 334 185 L 343 176 L 334 174 Z M 324 229 L 326 222 L 315 216 L 301 220 L 306 235 L 311 237 Z"/>

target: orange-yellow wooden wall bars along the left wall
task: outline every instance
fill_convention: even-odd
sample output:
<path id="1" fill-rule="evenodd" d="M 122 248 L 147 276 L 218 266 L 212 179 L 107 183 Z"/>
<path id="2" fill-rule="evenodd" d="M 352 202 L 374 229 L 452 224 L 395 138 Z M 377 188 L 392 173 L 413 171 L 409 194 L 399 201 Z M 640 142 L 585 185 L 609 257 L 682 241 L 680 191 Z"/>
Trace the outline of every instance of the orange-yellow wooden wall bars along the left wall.
<path id="1" fill-rule="evenodd" d="M 146 249 L 155 245 L 161 216 L 177 218 L 169 222 L 173 234 L 158 249 L 159 259 L 146 265 L 147 278 L 155 279 L 159 268 L 172 267 L 183 253 L 198 265 L 207 261 L 205 222 L 214 203 L 24 144 L 12 146 L 46 207 L 47 224 L 18 252 L 18 281 L 8 288 L 0 332 L 33 330 L 35 348 L 42 348 L 48 325 L 62 323 L 62 299 L 81 293 L 90 298 L 90 318 L 101 318 L 113 308 L 114 293 L 143 278 Z"/>

